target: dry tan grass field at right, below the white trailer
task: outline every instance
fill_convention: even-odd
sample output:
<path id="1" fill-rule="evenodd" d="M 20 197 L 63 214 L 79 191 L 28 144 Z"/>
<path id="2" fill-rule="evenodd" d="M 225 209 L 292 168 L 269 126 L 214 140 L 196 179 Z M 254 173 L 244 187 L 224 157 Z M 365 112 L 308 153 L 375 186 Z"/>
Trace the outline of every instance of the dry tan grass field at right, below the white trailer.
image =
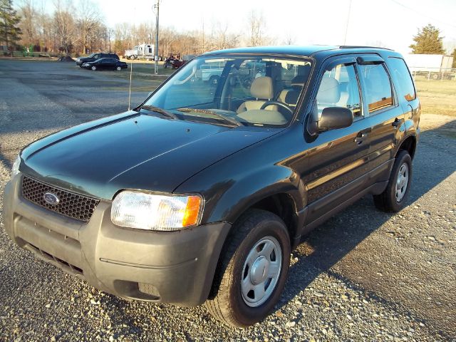
<path id="1" fill-rule="evenodd" d="M 417 77 L 415 85 L 424 114 L 456 116 L 456 80 L 429 80 Z"/>

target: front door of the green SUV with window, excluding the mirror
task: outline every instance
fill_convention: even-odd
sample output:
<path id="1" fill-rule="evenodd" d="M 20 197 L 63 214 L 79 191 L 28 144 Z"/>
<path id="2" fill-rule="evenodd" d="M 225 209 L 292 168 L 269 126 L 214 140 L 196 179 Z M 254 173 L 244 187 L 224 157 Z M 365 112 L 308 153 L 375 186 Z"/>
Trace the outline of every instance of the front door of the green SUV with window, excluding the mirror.
<path id="1" fill-rule="evenodd" d="M 326 65 L 314 115 L 318 112 L 319 118 L 324 108 L 344 107 L 353 112 L 354 120 L 347 128 L 318 133 L 311 143 L 306 155 L 309 170 L 303 177 L 309 204 L 306 224 L 318 224 L 366 184 L 371 126 L 364 115 L 360 88 L 355 57 L 336 58 Z"/>

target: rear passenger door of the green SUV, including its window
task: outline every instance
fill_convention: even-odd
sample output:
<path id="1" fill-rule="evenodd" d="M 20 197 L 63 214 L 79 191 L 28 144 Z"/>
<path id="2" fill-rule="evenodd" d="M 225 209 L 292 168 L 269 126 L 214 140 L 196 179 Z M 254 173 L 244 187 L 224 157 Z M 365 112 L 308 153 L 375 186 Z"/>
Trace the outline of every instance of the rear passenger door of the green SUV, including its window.
<path id="1" fill-rule="evenodd" d="M 371 183 L 388 180 L 395 146 L 405 134 L 404 111 L 385 61 L 378 55 L 357 58 L 363 102 L 371 125 L 369 170 Z"/>

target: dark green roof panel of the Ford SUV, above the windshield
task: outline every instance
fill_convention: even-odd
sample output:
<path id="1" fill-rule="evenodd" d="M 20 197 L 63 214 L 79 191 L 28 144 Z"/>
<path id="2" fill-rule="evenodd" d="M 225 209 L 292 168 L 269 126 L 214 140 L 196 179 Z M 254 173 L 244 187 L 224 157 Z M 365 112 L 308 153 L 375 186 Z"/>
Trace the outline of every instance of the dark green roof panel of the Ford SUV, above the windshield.
<path id="1" fill-rule="evenodd" d="M 333 53 L 352 53 L 352 52 L 379 52 L 391 51 L 387 48 L 376 48 L 373 46 L 330 46 L 330 45 L 311 45 L 311 46 L 254 46 L 244 48 L 229 48 L 226 50 L 210 51 L 204 53 L 203 56 L 218 55 L 226 53 L 264 53 L 277 55 L 292 55 L 292 56 L 312 56 L 319 52 L 331 51 Z"/>

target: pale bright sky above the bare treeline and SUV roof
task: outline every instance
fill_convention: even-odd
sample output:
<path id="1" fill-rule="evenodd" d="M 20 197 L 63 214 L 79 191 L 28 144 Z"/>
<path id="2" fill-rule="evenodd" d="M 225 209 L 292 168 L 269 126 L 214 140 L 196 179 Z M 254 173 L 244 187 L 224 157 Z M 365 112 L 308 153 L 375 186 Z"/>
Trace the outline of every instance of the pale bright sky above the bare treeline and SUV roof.
<path id="1" fill-rule="evenodd" d="M 49 0 L 48 0 L 49 1 Z M 156 0 L 93 0 L 105 23 L 155 24 Z M 47 2 L 47 1 L 46 1 Z M 51 2 L 51 1 L 49 1 Z M 115 6 L 116 3 L 120 6 Z M 161 0 L 160 24 L 179 31 L 210 31 L 214 23 L 247 32 L 252 9 L 263 14 L 266 31 L 276 43 L 343 44 L 350 0 Z M 408 53 L 418 28 L 433 24 L 445 36 L 445 48 L 456 48 L 456 0 L 351 0 L 346 44 L 376 45 Z"/>

